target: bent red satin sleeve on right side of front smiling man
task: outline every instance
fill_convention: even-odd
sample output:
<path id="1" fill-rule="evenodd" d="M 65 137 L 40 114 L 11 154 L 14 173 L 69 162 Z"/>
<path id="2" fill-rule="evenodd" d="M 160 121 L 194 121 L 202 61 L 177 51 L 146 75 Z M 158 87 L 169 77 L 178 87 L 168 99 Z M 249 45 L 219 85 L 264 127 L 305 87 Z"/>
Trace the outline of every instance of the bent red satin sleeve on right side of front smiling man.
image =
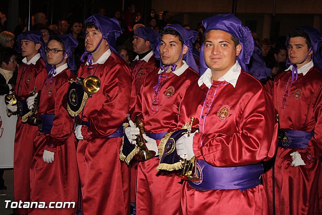
<path id="1" fill-rule="evenodd" d="M 272 98 L 266 90 L 255 93 L 239 114 L 238 132 L 232 135 L 195 134 L 193 150 L 197 158 L 213 166 L 231 167 L 258 164 L 274 156 L 277 122 Z"/>

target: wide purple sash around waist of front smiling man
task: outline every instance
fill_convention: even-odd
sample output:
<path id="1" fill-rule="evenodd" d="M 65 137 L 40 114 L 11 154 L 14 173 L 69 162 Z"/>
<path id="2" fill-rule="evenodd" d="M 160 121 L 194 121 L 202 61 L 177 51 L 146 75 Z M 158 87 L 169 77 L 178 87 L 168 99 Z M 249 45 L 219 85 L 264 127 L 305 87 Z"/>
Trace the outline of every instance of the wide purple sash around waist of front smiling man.
<path id="1" fill-rule="evenodd" d="M 239 189 L 243 191 L 261 183 L 260 178 L 264 168 L 262 164 L 214 167 L 203 160 L 197 160 L 196 172 L 201 182 L 188 182 L 194 189 L 202 191 Z"/>

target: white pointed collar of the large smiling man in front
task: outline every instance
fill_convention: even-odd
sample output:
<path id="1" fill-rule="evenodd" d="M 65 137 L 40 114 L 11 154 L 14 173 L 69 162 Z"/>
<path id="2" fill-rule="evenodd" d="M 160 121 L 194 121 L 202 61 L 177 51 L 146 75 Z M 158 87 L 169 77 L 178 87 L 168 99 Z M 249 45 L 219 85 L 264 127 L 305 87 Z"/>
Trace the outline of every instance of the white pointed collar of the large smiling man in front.
<path id="1" fill-rule="evenodd" d="M 236 60 L 236 63 L 222 76 L 218 79 L 218 81 L 226 81 L 229 84 L 231 84 L 233 87 L 236 86 L 238 77 L 240 75 L 240 65 L 238 61 Z M 199 78 L 198 85 L 199 87 L 205 84 L 209 89 L 212 85 L 211 82 L 211 69 L 207 68 L 204 74 Z"/>

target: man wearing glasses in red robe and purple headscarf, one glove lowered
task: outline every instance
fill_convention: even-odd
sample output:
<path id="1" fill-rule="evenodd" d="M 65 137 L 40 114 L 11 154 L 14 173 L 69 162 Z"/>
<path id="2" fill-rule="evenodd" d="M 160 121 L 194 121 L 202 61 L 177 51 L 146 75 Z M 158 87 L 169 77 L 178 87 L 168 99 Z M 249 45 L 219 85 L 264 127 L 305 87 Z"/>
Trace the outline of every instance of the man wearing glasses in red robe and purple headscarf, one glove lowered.
<path id="1" fill-rule="evenodd" d="M 34 135 L 35 155 L 30 165 L 30 200 L 37 202 L 70 201 L 70 208 L 30 208 L 29 214 L 75 214 L 78 192 L 76 138 L 72 132 L 73 118 L 66 109 L 68 81 L 75 79 L 72 47 L 78 44 L 70 34 L 52 36 L 45 48 L 51 65 L 41 88 L 38 117 L 42 120 Z M 39 92 L 38 92 L 39 93 Z M 32 109 L 34 96 L 27 98 Z M 66 189 L 67 188 L 67 189 Z"/>

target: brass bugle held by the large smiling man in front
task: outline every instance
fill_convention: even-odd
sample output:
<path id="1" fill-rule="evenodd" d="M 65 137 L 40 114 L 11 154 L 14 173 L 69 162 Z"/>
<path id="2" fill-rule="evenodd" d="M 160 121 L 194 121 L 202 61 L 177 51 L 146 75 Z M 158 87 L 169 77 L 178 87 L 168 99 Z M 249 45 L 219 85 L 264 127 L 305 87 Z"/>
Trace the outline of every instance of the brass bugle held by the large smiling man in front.
<path id="1" fill-rule="evenodd" d="M 192 131 L 192 124 L 193 121 L 195 120 L 195 117 L 190 117 L 190 125 L 189 125 L 189 129 L 188 129 L 188 136 L 190 136 L 191 131 Z M 198 177 L 198 175 L 196 174 L 196 156 L 193 156 L 189 161 L 187 159 L 183 159 L 184 162 L 184 166 L 182 168 L 182 172 L 180 177 L 184 180 L 187 181 L 195 181 L 195 182 L 199 182 L 201 181 L 201 179 Z"/>

